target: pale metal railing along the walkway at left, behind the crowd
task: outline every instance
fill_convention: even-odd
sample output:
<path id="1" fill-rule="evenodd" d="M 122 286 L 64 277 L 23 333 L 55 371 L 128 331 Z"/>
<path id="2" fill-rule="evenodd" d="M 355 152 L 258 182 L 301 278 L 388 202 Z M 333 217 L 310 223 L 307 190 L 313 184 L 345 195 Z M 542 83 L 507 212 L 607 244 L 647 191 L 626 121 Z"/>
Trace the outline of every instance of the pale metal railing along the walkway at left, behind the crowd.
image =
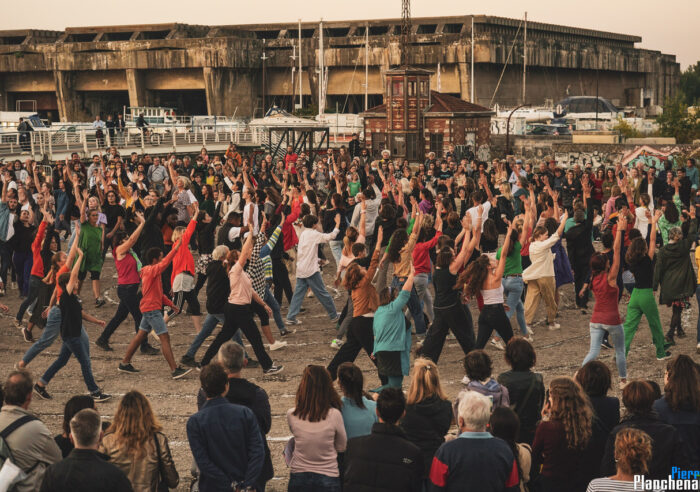
<path id="1" fill-rule="evenodd" d="M 221 151 L 229 143 L 243 146 L 260 145 L 253 132 L 240 126 L 226 128 L 192 127 L 189 125 L 152 126 L 146 132 L 127 127 L 124 131 L 102 131 L 101 138 L 93 128 L 63 127 L 19 132 L 0 133 L 0 159 L 27 158 L 50 161 L 65 159 L 72 153 L 81 157 L 115 146 L 122 153 L 193 152 L 202 147 Z"/>

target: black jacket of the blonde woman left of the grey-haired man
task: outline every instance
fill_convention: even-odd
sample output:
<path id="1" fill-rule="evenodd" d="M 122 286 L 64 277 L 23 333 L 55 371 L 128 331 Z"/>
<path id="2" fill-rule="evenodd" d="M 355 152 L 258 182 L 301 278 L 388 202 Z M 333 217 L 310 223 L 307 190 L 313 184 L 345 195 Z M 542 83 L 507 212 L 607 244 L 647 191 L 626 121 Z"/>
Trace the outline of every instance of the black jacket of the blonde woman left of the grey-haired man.
<path id="1" fill-rule="evenodd" d="M 430 473 L 435 451 L 445 442 L 452 425 L 452 404 L 437 396 L 406 406 L 406 415 L 399 423 L 406 439 L 423 453 L 423 477 Z"/>

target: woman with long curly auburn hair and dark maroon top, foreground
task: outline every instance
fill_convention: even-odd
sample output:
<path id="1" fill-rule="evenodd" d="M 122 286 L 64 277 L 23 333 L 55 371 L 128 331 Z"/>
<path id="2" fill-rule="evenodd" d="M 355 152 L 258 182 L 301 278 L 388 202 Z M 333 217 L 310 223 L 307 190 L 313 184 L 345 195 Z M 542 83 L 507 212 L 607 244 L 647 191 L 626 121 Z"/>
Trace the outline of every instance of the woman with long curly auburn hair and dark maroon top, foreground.
<path id="1" fill-rule="evenodd" d="M 536 466 L 541 465 L 542 492 L 583 491 L 591 480 L 586 449 L 591 440 L 593 409 L 581 386 L 571 378 L 554 378 L 532 443 Z"/>

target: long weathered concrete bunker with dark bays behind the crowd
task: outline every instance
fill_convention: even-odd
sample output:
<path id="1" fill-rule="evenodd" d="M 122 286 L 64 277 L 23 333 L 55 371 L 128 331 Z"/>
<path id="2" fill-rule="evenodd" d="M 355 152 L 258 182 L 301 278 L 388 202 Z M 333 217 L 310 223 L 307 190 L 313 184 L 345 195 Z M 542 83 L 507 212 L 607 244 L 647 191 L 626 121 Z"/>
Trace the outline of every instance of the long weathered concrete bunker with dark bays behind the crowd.
<path id="1" fill-rule="evenodd" d="M 620 106 L 653 107 L 677 90 L 675 56 L 641 49 L 641 37 L 493 16 L 410 17 L 323 23 L 326 107 L 341 112 L 382 104 L 384 74 L 402 65 L 432 71 L 430 87 L 488 106 L 521 98 L 527 53 L 528 102 L 595 95 Z M 410 28 L 409 28 L 410 25 Z M 473 29 L 472 29 L 473 26 Z M 473 35 L 473 42 L 472 42 Z M 318 101 L 317 22 L 218 25 L 149 24 L 0 32 L 0 110 L 34 101 L 52 120 L 92 121 L 124 106 L 166 106 L 178 114 L 253 117 L 272 104 L 287 110 Z M 409 39 L 406 50 L 401 39 Z M 263 41 L 265 98 L 262 102 Z M 301 58 L 292 79 L 290 57 Z M 474 73 L 471 75 L 471 54 Z M 403 55 L 402 55 L 403 54 Z M 367 62 L 367 76 L 363 76 Z M 439 69 L 438 69 L 439 67 Z M 596 76 L 598 73 L 598 76 Z M 299 77 L 301 75 L 301 77 Z M 366 80 L 366 85 L 365 85 Z M 474 97 L 471 97 L 473 91 Z"/>

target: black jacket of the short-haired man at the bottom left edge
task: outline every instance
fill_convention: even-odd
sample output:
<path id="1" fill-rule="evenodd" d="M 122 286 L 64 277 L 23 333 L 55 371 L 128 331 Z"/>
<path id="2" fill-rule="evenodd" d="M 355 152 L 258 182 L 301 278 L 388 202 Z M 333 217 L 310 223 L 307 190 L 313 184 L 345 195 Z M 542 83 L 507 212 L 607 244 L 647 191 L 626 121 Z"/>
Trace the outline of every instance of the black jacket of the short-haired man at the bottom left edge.
<path id="1" fill-rule="evenodd" d="M 132 492 L 124 472 L 93 449 L 74 449 L 63 461 L 49 466 L 40 492 Z M 99 485 L 97 485 L 99 484 Z"/>

